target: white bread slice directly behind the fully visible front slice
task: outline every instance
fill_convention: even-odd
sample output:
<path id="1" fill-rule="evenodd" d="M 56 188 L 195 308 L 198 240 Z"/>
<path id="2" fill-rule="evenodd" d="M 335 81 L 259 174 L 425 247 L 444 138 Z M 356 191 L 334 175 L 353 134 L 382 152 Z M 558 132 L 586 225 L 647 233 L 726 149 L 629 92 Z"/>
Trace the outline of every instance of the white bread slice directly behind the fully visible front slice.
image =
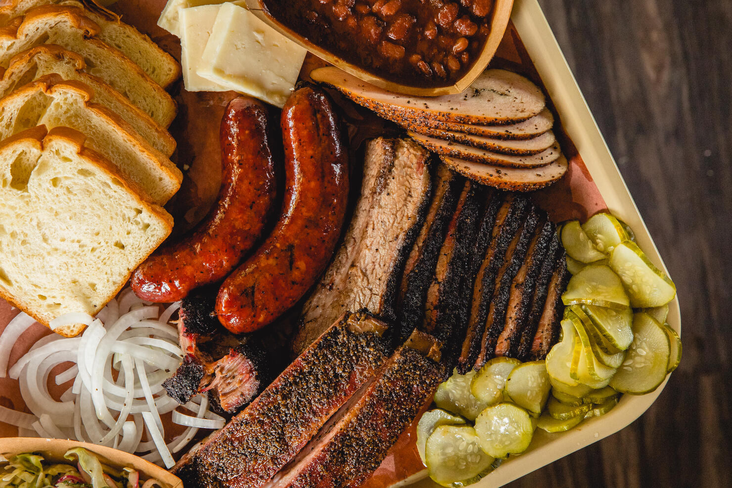
<path id="1" fill-rule="evenodd" d="M 41 124 L 70 127 L 86 135 L 87 147 L 104 154 L 150 200 L 167 202 L 183 180 L 180 170 L 119 116 L 89 102 L 91 96 L 88 86 L 59 75 L 24 85 L 0 100 L 0 140 Z"/>

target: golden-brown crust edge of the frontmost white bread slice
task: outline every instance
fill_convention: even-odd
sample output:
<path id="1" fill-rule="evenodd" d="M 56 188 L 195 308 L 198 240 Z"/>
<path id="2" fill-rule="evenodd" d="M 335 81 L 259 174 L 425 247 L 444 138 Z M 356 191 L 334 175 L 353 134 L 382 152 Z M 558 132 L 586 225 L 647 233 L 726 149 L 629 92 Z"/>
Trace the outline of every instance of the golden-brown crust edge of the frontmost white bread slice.
<path id="1" fill-rule="evenodd" d="M 12 149 L 13 146 L 27 146 L 31 144 L 37 149 L 43 151 L 50 148 L 54 144 L 67 144 L 69 146 L 72 146 L 72 150 L 75 151 L 80 159 L 85 159 L 86 162 L 96 166 L 103 173 L 106 173 L 110 178 L 118 179 L 122 184 L 122 187 L 129 193 L 129 195 L 137 200 L 136 205 L 139 205 L 149 211 L 151 214 L 154 214 L 154 216 L 161 219 L 162 223 L 165 225 L 165 235 L 161 239 L 157 239 L 157 241 L 151 243 L 151 245 L 149 246 L 149 252 L 146 256 L 141 258 L 137 264 L 142 263 L 143 260 L 145 260 L 147 256 L 149 256 L 152 251 L 154 251 L 154 249 L 160 246 L 160 244 L 165 241 L 167 236 L 170 235 L 171 231 L 173 230 L 173 217 L 171 217 L 171 215 L 168 214 L 168 212 L 165 211 L 163 207 L 158 206 L 143 197 L 143 194 L 141 194 L 140 189 L 137 187 L 137 185 L 135 185 L 132 181 L 129 181 L 119 171 L 119 168 L 117 168 L 108 159 L 102 156 L 102 154 L 99 154 L 97 153 L 97 151 L 93 151 L 84 147 L 85 140 L 86 136 L 84 136 L 81 132 L 70 129 L 68 127 L 54 127 L 50 131 L 47 131 L 45 126 L 37 126 L 31 127 L 31 129 L 26 129 L 23 132 L 20 132 L 16 135 L 11 136 L 10 138 L 7 138 L 6 140 L 3 140 L 0 143 L 0 153 L 5 150 Z M 131 273 L 132 270 L 130 270 L 125 279 L 119 282 L 118 287 L 116 288 L 116 290 L 113 291 L 113 293 L 109 293 L 108 296 L 103 298 L 103 303 L 107 303 L 108 301 L 113 299 L 113 297 L 116 296 L 117 293 L 122 290 L 122 288 L 124 288 L 124 285 L 127 284 L 127 280 L 129 279 Z M 26 312 L 26 314 L 36 319 L 44 326 L 49 326 L 48 323 L 50 322 L 50 320 L 48 317 L 34 312 L 34 310 L 31 309 L 28 304 L 13 296 L 11 293 L 5 290 L 2 285 L 0 285 L 0 297 L 9 301 L 13 305 L 15 305 L 15 307 L 18 307 L 18 309 L 23 310 L 23 312 Z M 100 310 L 102 308 L 103 307 L 99 307 Z M 55 332 L 57 334 L 61 334 L 64 337 L 74 337 L 75 335 L 81 333 L 81 331 L 83 331 L 85 327 L 86 326 L 81 323 L 69 324 L 67 326 L 56 329 Z"/>

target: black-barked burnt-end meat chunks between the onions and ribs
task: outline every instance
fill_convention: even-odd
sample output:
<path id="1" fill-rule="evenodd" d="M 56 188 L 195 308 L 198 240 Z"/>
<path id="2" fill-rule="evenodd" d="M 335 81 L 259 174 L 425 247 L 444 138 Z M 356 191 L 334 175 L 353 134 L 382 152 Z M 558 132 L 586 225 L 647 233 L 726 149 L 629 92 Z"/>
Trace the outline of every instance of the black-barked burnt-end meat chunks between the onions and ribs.
<path id="1" fill-rule="evenodd" d="M 181 405 L 208 394 L 214 410 L 236 413 L 272 380 L 274 361 L 259 337 L 237 337 L 214 314 L 216 288 L 201 288 L 182 300 L 179 342 L 183 363 L 163 387 Z"/>

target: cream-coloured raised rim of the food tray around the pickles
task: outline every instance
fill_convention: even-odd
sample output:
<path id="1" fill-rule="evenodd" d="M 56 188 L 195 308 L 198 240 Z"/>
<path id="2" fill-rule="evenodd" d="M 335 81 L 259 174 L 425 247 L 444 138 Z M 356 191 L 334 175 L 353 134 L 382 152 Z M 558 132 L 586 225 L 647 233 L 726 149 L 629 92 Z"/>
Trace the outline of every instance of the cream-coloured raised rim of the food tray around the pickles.
<path id="1" fill-rule="evenodd" d="M 544 13 L 539 7 L 539 2 L 537 0 L 515 0 L 511 20 L 534 62 L 534 67 L 542 78 L 559 114 L 564 131 L 575 143 L 608 209 L 630 225 L 635 233 L 638 246 L 646 252 L 651 262 L 668 274 L 572 71 L 569 70 Z M 680 334 L 681 315 L 678 297 L 668 304 L 668 308 L 668 323 Z M 668 377 L 666 381 L 668 381 Z M 500 487 L 531 471 L 542 468 L 550 462 L 561 459 L 567 454 L 613 435 L 648 410 L 661 394 L 666 381 L 650 394 L 623 395 L 616 408 L 610 410 L 609 413 L 589 418 L 568 432 L 548 434 L 537 429 L 529 450 L 520 456 L 507 459 L 495 471 L 471 486 L 476 488 Z M 420 476 L 427 476 L 426 471 Z M 438 485 L 427 478 L 409 486 L 427 488 Z"/>

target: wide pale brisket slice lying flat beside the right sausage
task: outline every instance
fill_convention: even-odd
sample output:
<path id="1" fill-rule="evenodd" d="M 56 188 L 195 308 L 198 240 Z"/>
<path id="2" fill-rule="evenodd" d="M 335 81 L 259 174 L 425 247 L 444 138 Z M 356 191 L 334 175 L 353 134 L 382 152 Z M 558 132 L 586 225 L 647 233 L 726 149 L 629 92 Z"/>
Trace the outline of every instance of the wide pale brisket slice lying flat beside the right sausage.
<path id="1" fill-rule="evenodd" d="M 430 202 L 430 154 L 411 139 L 367 142 L 364 179 L 343 244 L 302 309 L 294 350 L 348 310 L 396 317 L 399 277 Z"/>

